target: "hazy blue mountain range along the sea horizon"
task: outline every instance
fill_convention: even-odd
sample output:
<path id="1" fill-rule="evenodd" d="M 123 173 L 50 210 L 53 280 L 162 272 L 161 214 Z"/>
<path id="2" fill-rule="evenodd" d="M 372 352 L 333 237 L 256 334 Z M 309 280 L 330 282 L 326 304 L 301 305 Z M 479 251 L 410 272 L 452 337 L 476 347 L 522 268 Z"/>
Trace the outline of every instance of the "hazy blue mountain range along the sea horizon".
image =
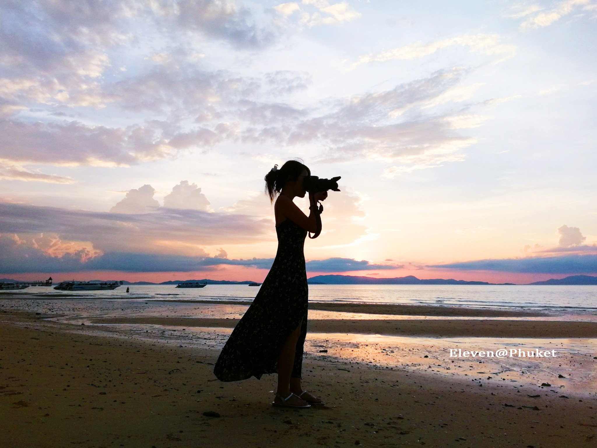
<path id="1" fill-rule="evenodd" d="M 14 283 L 19 280 L 12 278 L 0 278 L 1 282 Z M 90 281 L 115 281 L 115 280 L 90 280 Z M 203 280 L 170 280 L 162 283 L 152 283 L 150 281 L 122 281 L 124 285 L 176 285 L 187 281 L 198 281 L 200 283 L 207 283 L 208 285 L 248 285 L 254 283 L 250 280 L 233 281 L 233 280 L 210 280 L 204 278 Z M 307 280 L 311 285 L 513 285 L 514 283 L 488 283 L 487 281 L 464 281 L 454 280 L 453 278 L 431 278 L 420 279 L 414 275 L 407 275 L 407 277 L 394 278 L 373 278 L 373 277 L 359 277 L 356 275 L 315 275 Z M 58 282 L 54 282 L 57 284 Z M 257 282 L 259 283 L 259 282 Z M 571 275 L 565 278 L 552 278 L 546 281 L 536 281 L 529 283 L 530 285 L 597 285 L 597 277 L 591 275 Z"/>

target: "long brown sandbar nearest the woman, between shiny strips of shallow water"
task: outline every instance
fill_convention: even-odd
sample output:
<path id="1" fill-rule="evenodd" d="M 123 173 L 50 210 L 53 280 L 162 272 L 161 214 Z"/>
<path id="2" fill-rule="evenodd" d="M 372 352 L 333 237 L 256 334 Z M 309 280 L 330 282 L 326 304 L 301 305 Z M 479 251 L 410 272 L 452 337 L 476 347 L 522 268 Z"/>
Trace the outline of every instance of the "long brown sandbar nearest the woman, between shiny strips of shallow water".
<path id="1" fill-rule="evenodd" d="M 95 324 L 150 324 L 174 327 L 234 328 L 238 319 L 192 317 L 115 317 L 91 319 Z M 309 320 L 311 333 L 435 337 L 597 337 L 596 322 L 524 320 Z"/>

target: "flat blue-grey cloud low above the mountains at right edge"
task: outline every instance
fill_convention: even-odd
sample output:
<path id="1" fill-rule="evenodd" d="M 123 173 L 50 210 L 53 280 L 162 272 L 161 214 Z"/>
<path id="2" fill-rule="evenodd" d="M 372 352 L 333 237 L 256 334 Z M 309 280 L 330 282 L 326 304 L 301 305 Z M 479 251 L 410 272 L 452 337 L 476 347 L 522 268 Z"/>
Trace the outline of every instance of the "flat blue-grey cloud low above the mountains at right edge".
<path id="1" fill-rule="evenodd" d="M 475 260 L 427 267 L 456 269 L 458 271 L 516 272 L 520 274 L 597 274 L 597 255 Z"/>

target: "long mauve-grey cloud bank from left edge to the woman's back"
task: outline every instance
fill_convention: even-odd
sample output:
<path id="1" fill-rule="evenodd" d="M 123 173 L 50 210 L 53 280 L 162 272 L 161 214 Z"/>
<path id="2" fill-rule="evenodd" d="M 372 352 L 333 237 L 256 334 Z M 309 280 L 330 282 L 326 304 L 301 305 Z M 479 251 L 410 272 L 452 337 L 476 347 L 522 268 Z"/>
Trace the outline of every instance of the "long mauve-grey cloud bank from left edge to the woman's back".
<path id="1" fill-rule="evenodd" d="M 158 207 L 153 213 L 99 213 L 0 203 L 0 232 L 55 234 L 91 241 L 103 253 L 164 252 L 203 256 L 206 246 L 251 244 L 272 239 L 271 219 L 202 210 Z M 21 236 L 22 235 L 22 236 Z"/>

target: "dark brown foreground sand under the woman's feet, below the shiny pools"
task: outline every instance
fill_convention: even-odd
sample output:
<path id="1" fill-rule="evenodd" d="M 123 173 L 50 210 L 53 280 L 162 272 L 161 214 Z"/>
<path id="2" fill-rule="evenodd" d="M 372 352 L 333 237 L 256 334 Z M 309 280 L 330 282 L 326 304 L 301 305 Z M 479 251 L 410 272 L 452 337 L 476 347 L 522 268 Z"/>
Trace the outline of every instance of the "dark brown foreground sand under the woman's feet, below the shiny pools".
<path id="1" fill-rule="evenodd" d="M 275 409 L 269 404 L 275 375 L 220 383 L 210 364 L 218 354 L 213 349 L 141 342 L 109 327 L 41 317 L 0 314 L 3 447 L 570 447 L 597 441 L 597 400 L 587 393 L 306 357 L 304 386 L 327 406 Z"/>

